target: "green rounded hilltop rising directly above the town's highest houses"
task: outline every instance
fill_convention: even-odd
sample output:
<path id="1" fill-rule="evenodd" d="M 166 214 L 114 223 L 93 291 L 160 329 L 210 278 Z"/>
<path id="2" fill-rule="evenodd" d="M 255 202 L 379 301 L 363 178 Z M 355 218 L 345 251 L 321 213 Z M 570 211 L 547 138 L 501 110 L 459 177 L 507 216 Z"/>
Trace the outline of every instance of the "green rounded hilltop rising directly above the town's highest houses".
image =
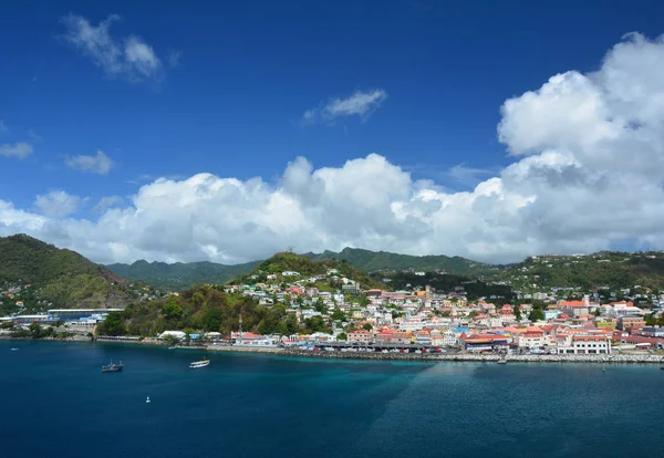
<path id="1" fill-rule="evenodd" d="M 279 275 L 286 271 L 298 272 L 298 278 L 307 278 L 314 275 L 328 275 L 332 269 L 338 271 L 339 277 L 346 277 L 361 284 L 362 288 L 382 288 L 384 284 L 381 281 L 370 277 L 366 272 L 357 269 L 346 260 L 339 259 L 311 259 L 308 256 L 295 254 L 291 252 L 277 253 L 272 258 L 262 261 L 251 272 L 240 275 L 235 281 L 245 283 L 256 283 L 267 281 L 267 275 L 274 273 Z M 251 279 L 256 275 L 256 279 Z M 293 278 L 288 278 L 293 280 Z"/>

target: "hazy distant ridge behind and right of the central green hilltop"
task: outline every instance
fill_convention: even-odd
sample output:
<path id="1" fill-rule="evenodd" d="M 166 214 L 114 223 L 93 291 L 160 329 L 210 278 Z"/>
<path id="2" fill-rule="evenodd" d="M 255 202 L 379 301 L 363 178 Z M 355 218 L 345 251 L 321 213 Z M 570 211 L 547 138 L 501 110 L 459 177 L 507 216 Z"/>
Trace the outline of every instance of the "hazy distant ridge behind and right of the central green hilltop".
<path id="1" fill-rule="evenodd" d="M 370 251 L 360 248 L 344 248 L 341 252 L 324 251 L 305 253 L 311 259 L 343 259 L 365 272 L 378 271 L 437 271 L 466 277 L 487 277 L 502 270 L 499 266 L 485 264 L 460 257 L 409 256 L 386 251 Z"/>

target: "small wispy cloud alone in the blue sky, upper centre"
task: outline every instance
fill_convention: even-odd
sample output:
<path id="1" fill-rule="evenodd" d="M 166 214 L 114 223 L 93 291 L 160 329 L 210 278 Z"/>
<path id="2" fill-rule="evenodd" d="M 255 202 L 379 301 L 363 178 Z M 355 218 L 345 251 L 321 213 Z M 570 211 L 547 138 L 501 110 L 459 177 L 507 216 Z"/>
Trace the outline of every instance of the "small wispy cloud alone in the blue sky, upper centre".
<path id="1" fill-rule="evenodd" d="M 332 98 L 326 104 L 305 111 L 302 122 L 304 124 L 330 123 L 342 116 L 360 116 L 366 119 L 386 98 L 387 93 L 383 90 L 356 91 L 347 98 Z"/>

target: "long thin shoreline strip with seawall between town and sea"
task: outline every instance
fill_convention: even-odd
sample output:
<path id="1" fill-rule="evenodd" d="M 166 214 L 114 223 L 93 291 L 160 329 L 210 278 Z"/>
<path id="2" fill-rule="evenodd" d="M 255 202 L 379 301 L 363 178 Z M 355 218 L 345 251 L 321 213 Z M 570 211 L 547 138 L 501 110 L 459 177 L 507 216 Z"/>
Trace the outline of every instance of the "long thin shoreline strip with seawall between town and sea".
<path id="1" fill-rule="evenodd" d="M 167 350 L 168 345 L 163 342 L 138 342 L 138 341 L 112 341 L 112 340 L 94 340 L 86 339 L 30 339 L 30 337 L 10 337 L 0 336 L 3 341 L 35 341 L 35 342 L 91 342 L 104 344 L 121 344 L 121 345 L 145 345 L 145 346 L 162 346 Z M 203 345 L 188 347 L 186 345 L 177 346 L 174 350 L 190 350 L 207 352 L 232 352 L 232 353 L 258 353 L 269 355 L 281 355 L 289 357 L 305 357 L 319 360 L 364 360 L 364 361 L 409 361 L 409 362 L 449 362 L 449 363 L 494 363 L 504 357 L 495 354 L 471 354 L 471 353 L 374 353 L 374 352 L 313 352 L 302 350 L 291 350 L 282 347 L 252 347 L 252 346 L 235 346 L 235 345 Z M 627 354 L 610 354 L 610 355 L 507 355 L 505 360 L 508 363 L 599 363 L 599 364 L 662 364 L 664 367 L 664 355 L 627 355 Z"/>

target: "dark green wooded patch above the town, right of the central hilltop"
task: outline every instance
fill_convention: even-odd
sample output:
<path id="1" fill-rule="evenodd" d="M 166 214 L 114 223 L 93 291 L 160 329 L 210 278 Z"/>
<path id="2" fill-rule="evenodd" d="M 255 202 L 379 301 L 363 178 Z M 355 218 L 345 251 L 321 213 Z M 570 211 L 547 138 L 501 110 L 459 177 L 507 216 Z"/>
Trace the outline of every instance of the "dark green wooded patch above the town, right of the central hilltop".
<path id="1" fill-rule="evenodd" d="M 468 277 L 442 274 L 436 272 L 426 272 L 424 275 L 416 275 L 414 272 L 386 272 L 376 274 L 388 279 L 392 290 L 415 290 L 428 284 L 438 292 L 454 291 L 455 288 L 463 288 L 467 293 L 467 299 L 475 301 L 478 298 L 491 298 L 494 303 L 512 302 L 515 294 L 509 285 L 485 283 L 483 281 Z"/>

